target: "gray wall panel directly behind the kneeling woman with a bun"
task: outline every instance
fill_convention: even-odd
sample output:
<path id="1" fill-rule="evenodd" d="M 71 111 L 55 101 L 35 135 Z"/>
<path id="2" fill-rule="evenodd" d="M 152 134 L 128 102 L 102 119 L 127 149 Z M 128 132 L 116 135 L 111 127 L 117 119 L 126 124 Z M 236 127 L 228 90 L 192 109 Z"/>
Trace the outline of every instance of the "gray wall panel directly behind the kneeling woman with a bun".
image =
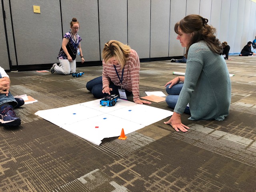
<path id="1" fill-rule="evenodd" d="M 81 47 L 84 60 L 100 60 L 98 2 L 95 0 L 72 0 L 72 4 L 70 4 L 68 1 L 62 1 L 61 7 L 63 33 L 65 34 L 70 31 L 72 18 L 77 18 L 80 24 L 78 35 L 82 38 Z M 76 61 L 81 60 L 77 58 Z"/>

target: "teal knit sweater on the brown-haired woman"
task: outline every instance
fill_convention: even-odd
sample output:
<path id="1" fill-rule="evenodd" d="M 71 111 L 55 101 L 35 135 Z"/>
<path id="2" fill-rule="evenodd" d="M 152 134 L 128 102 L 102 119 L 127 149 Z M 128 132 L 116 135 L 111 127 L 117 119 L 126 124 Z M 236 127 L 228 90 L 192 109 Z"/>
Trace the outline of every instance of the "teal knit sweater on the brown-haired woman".
<path id="1" fill-rule="evenodd" d="M 190 120 L 224 120 L 229 114 L 231 82 L 222 55 L 212 52 L 204 41 L 188 50 L 185 81 L 174 108 L 182 114 L 189 103 Z"/>

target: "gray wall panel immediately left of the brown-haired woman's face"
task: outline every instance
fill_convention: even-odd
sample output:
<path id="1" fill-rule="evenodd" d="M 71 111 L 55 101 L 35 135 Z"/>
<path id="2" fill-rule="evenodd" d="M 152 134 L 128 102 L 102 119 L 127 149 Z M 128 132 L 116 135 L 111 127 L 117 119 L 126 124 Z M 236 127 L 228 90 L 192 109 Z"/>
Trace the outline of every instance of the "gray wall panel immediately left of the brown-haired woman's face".
<path id="1" fill-rule="evenodd" d="M 184 4 L 186 4 L 186 0 L 171 1 L 169 56 L 184 55 L 184 48 L 180 41 L 176 39 L 177 34 L 174 32 L 174 25 L 186 16 L 186 6 Z"/>

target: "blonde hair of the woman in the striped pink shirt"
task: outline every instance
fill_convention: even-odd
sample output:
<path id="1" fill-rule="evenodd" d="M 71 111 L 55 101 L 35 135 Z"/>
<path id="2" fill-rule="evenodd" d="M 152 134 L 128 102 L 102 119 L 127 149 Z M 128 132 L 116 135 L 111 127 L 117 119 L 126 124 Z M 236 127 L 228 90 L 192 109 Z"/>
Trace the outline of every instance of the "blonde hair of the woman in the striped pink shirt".
<path id="1" fill-rule="evenodd" d="M 108 63 L 108 60 L 114 57 L 121 65 L 121 68 L 124 68 L 124 65 L 129 57 L 130 50 L 130 46 L 125 45 L 117 40 L 110 40 L 104 45 L 102 58 L 106 63 Z"/>

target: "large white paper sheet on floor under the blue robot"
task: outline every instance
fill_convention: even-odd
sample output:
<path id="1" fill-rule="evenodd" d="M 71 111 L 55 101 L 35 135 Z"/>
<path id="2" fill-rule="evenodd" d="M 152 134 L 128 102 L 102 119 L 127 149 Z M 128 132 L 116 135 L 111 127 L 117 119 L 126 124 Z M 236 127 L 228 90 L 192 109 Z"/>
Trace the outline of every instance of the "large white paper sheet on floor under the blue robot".
<path id="1" fill-rule="evenodd" d="M 115 106 L 101 106 L 100 99 L 35 113 L 96 145 L 104 138 L 129 134 L 173 114 L 149 105 L 118 99 Z"/>

